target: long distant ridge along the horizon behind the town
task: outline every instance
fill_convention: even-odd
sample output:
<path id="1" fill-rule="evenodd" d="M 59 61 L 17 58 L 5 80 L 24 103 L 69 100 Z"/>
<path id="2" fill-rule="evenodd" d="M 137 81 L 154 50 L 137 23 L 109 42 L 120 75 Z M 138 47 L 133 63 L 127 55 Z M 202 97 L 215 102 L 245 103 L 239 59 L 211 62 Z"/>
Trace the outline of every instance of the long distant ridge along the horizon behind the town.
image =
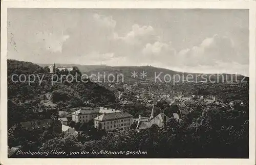
<path id="1" fill-rule="evenodd" d="M 49 66 L 51 64 L 39 64 L 39 65 Z M 78 65 L 78 64 L 77 65 L 76 64 L 56 64 L 56 66 L 63 66 L 63 67 L 77 66 L 81 71 L 81 73 L 87 74 L 87 75 L 100 73 L 101 75 L 105 74 L 107 77 L 109 74 L 113 74 L 115 78 L 117 78 L 118 75 L 122 74 L 124 77 L 124 82 L 135 82 L 135 81 L 145 81 L 145 80 L 154 82 L 156 77 L 158 77 L 161 81 L 164 81 L 165 79 L 168 82 L 169 77 L 171 80 L 175 79 L 177 81 L 179 76 L 180 76 L 180 79 L 183 79 L 184 81 L 197 80 L 197 81 L 214 81 L 214 82 L 221 82 L 221 83 L 232 81 L 232 80 L 233 81 L 234 80 L 249 81 L 249 77 L 245 77 L 243 75 L 230 75 L 225 73 L 219 74 L 219 75 L 218 74 L 182 73 L 182 72 L 177 72 L 175 70 L 153 67 L 153 66 L 108 66 L 108 65 Z M 143 71 L 146 73 L 146 77 L 144 78 L 141 77 L 141 73 L 143 73 Z M 137 73 L 137 77 L 131 77 L 133 72 Z M 165 75 L 167 76 L 164 78 Z M 191 76 L 193 78 L 191 78 Z M 157 79 L 158 82 L 159 82 L 159 79 Z"/>

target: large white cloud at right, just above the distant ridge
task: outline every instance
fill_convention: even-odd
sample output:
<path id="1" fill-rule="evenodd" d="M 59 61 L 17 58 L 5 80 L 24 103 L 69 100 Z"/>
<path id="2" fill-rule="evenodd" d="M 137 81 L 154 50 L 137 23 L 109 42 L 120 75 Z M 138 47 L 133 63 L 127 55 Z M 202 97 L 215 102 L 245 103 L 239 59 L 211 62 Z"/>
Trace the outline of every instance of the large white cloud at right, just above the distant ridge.
<path id="1" fill-rule="evenodd" d="M 225 36 L 206 38 L 199 46 L 178 53 L 180 63 L 188 66 L 216 65 L 218 62 L 242 62 L 233 41 Z M 241 61 L 242 60 L 242 61 Z"/>

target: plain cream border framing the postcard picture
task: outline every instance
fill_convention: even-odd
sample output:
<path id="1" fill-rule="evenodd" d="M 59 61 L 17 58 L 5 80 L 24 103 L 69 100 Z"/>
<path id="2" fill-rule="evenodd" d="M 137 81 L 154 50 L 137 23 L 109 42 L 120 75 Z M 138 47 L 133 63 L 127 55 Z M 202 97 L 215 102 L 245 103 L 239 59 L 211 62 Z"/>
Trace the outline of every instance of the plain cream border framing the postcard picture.
<path id="1" fill-rule="evenodd" d="M 249 9 L 249 159 L 7 158 L 7 9 L 134 8 Z M 2 164 L 255 164 L 255 1 L 1 1 L 1 152 Z"/>

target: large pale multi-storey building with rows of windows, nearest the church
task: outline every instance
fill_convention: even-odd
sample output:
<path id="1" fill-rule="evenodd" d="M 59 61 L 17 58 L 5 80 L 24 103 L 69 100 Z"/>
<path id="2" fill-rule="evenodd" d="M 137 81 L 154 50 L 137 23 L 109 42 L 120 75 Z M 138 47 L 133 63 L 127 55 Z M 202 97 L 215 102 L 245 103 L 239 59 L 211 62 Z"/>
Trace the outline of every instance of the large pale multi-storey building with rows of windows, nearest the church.
<path id="1" fill-rule="evenodd" d="M 104 113 L 94 119 L 94 127 L 104 130 L 129 129 L 133 116 L 127 112 Z"/>

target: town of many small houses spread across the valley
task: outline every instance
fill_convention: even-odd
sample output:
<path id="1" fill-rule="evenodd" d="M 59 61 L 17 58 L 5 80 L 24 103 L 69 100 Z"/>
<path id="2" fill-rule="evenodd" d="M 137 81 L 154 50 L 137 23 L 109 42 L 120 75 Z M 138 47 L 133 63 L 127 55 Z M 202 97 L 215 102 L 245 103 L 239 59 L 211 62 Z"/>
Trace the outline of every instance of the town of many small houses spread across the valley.
<path id="1" fill-rule="evenodd" d="M 62 70 L 64 69 L 62 68 Z M 68 89 L 63 86 L 64 83 L 61 84 L 57 83 L 55 86 Z M 114 102 L 98 106 L 97 102 L 92 102 L 93 98 L 91 100 L 88 98 L 88 101 L 83 101 L 83 106 L 68 108 L 69 106 L 61 106 L 56 101 L 54 103 L 54 90 L 52 92 L 44 91 L 40 94 L 41 99 L 38 103 L 41 107 L 48 105 L 48 107 L 58 110 L 57 120 L 42 119 L 16 123 L 9 128 L 8 136 L 15 138 L 23 134 L 39 135 L 52 130 L 56 134 L 72 136 L 80 142 L 84 142 L 86 139 L 95 138 L 88 132 L 92 128 L 107 132 L 131 129 L 139 133 L 154 125 L 159 128 L 165 127 L 172 118 L 177 122 L 182 122 L 184 117 L 193 116 L 191 120 L 197 122 L 203 108 L 207 106 L 218 106 L 230 112 L 240 107 L 243 113 L 248 113 L 246 111 L 248 84 L 244 83 L 177 83 L 170 85 L 153 83 L 150 80 L 139 80 L 138 82 L 98 84 L 114 93 Z M 223 89 L 228 93 L 225 93 Z M 215 93 L 211 92 L 212 90 Z M 17 100 L 17 102 L 20 104 L 23 101 Z M 35 106 L 38 107 L 38 105 Z M 28 140 L 32 142 L 34 139 L 28 138 Z M 9 156 L 21 147 L 20 145 L 9 147 Z"/>

